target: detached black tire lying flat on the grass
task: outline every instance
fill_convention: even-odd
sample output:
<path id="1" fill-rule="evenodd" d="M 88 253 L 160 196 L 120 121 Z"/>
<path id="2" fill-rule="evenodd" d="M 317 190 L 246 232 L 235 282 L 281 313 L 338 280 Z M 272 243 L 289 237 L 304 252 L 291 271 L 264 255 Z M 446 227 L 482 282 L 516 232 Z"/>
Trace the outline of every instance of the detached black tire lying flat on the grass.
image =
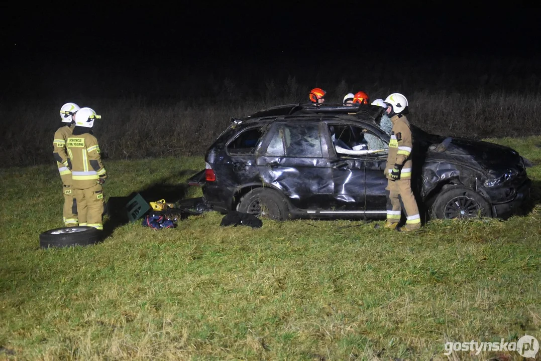
<path id="1" fill-rule="evenodd" d="M 103 231 L 86 226 L 49 229 L 39 235 L 39 247 L 89 246 L 100 242 L 102 234 Z"/>

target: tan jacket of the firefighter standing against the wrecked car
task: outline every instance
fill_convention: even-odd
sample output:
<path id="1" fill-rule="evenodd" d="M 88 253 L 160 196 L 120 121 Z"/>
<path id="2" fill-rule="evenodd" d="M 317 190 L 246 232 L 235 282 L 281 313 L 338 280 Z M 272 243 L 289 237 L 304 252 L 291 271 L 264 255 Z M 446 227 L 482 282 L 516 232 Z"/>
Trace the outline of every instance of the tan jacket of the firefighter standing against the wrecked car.
<path id="1" fill-rule="evenodd" d="M 385 166 L 385 176 L 391 178 L 391 172 L 395 165 L 401 166 L 399 179 L 411 179 L 411 151 L 412 135 L 410 122 L 405 115 L 397 114 L 391 118 L 393 128 L 391 130 L 391 140 L 389 141 L 389 154 L 387 156 L 387 165 Z"/>

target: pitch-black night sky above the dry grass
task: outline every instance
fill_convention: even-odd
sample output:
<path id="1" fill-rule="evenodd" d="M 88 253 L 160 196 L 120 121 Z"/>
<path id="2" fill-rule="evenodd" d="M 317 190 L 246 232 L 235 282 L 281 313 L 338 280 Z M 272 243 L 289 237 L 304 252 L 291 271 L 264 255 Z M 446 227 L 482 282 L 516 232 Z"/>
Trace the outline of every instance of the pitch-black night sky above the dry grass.
<path id="1" fill-rule="evenodd" d="M 433 59 L 474 56 L 501 58 L 505 65 L 506 59 L 541 55 L 537 9 L 479 6 L 466 11 L 394 4 L 361 8 L 354 3 L 348 8 L 343 2 L 232 4 L 177 4 L 173 8 L 160 3 L 153 8 L 148 4 L 90 4 L 74 8 L 66 3 L 25 9 L 3 5 L 0 80 L 8 84 L 4 87 L 8 90 L 0 90 L 0 98 L 2 94 L 22 97 L 19 94 L 27 88 L 35 89 L 28 92 L 29 97 L 42 97 L 56 86 L 50 84 L 51 77 L 55 79 L 68 66 L 77 74 L 78 66 L 91 67 L 93 71 L 80 73 L 93 77 L 101 69 L 113 69 L 101 73 L 105 81 L 121 69 L 138 75 L 131 81 L 140 81 L 150 79 L 152 73 L 144 69 L 151 67 L 202 69 L 203 76 L 206 67 L 225 69 L 222 74 L 235 68 L 231 73 L 239 77 L 243 65 L 265 71 L 269 65 L 275 65 L 277 71 L 289 66 L 288 72 L 299 74 L 307 62 L 326 64 L 322 66 L 325 73 L 326 66 L 338 67 L 344 59 L 349 59 L 347 64 L 354 59 L 362 67 L 365 59 L 394 56 L 397 62 L 430 66 Z M 130 73 L 126 69 L 136 70 Z M 110 82 L 107 88 L 111 88 Z"/>

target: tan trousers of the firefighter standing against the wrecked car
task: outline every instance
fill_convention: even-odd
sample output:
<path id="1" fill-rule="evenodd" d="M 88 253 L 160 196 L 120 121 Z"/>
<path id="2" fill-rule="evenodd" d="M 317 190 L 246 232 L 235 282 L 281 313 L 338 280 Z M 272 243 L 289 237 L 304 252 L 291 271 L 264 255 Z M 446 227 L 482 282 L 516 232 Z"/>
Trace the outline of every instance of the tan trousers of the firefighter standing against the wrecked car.
<path id="1" fill-rule="evenodd" d="M 387 222 L 400 222 L 402 210 L 406 213 L 406 228 L 421 227 L 419 207 L 411 190 L 411 180 L 388 180 L 387 188 Z"/>

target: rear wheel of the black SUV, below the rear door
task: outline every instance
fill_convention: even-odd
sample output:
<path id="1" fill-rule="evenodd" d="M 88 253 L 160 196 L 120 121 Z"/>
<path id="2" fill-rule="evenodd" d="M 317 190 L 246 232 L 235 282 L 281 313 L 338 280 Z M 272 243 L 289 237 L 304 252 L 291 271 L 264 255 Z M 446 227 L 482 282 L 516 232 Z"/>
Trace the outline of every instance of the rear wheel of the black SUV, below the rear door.
<path id="1" fill-rule="evenodd" d="M 242 213 L 267 217 L 276 221 L 285 221 L 289 218 L 287 202 L 278 191 L 269 188 L 250 190 L 241 198 L 237 209 Z"/>

